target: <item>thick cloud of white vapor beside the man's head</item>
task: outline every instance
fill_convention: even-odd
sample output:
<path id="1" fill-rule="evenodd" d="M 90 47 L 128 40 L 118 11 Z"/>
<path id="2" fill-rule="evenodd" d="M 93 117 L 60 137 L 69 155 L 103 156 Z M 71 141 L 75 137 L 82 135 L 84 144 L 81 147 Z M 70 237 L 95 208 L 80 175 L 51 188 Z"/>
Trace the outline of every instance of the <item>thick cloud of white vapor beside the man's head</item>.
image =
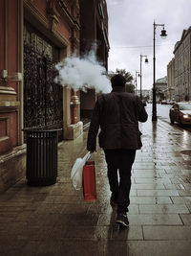
<path id="1" fill-rule="evenodd" d="M 84 58 L 68 57 L 55 65 L 58 70 L 56 82 L 74 90 L 95 89 L 109 93 L 112 90 L 106 70 L 97 61 L 94 52 Z"/>

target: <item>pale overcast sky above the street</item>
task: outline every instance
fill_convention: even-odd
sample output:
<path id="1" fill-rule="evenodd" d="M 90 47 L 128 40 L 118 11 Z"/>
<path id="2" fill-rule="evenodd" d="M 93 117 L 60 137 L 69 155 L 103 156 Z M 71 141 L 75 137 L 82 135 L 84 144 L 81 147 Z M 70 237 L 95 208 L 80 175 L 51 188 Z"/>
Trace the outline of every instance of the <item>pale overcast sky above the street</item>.
<path id="1" fill-rule="evenodd" d="M 134 77 L 142 58 L 142 89 L 153 86 L 153 23 L 165 24 L 167 37 L 156 30 L 156 79 L 167 76 L 167 64 L 183 30 L 191 26 L 191 0 L 107 0 L 109 15 L 109 71 L 126 69 Z M 139 78 L 138 78 L 139 89 Z"/>

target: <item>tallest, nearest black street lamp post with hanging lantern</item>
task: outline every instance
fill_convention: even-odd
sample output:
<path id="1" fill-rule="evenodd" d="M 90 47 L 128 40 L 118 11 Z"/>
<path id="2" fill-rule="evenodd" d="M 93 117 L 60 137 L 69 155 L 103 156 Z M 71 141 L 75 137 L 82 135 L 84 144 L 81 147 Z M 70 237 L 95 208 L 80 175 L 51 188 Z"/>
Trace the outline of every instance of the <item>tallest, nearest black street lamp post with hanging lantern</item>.
<path id="1" fill-rule="evenodd" d="M 166 31 L 164 30 L 164 24 L 156 24 L 154 20 L 153 29 L 154 29 L 154 35 L 153 35 L 153 113 L 152 113 L 152 121 L 157 121 L 157 104 L 156 104 L 156 56 L 155 56 L 155 41 L 156 41 L 156 28 L 158 26 L 163 27 L 161 30 L 160 36 L 165 38 L 166 37 Z"/>

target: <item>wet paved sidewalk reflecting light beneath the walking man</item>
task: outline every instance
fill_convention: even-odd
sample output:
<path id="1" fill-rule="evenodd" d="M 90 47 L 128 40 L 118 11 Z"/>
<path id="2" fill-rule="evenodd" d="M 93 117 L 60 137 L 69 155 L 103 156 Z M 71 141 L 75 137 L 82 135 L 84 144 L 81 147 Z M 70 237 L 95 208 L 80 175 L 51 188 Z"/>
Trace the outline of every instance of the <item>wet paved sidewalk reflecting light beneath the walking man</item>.
<path id="1" fill-rule="evenodd" d="M 30 187 L 23 178 L 0 195 L 0 255 L 190 255 L 191 133 L 151 118 L 140 129 L 129 228 L 116 224 L 103 151 L 95 153 L 96 202 L 74 190 L 71 168 L 86 153 L 85 131 L 59 146 L 56 184 Z"/>

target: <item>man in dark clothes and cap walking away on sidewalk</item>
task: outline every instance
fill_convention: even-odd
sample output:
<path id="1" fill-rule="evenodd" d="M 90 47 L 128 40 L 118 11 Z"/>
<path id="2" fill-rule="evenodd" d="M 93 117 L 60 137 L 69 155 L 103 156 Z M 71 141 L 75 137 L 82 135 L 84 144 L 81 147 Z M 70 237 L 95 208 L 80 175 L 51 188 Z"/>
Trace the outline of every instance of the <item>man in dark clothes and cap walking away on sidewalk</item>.
<path id="1" fill-rule="evenodd" d="M 148 115 L 138 96 L 125 92 L 126 80 L 121 75 L 112 79 L 111 93 L 97 98 L 91 120 L 87 150 L 96 151 L 98 129 L 99 147 L 105 152 L 112 206 L 117 206 L 117 223 L 128 226 L 131 169 L 136 151 L 142 146 L 138 121 L 146 122 Z M 119 174 L 119 180 L 117 178 Z"/>

